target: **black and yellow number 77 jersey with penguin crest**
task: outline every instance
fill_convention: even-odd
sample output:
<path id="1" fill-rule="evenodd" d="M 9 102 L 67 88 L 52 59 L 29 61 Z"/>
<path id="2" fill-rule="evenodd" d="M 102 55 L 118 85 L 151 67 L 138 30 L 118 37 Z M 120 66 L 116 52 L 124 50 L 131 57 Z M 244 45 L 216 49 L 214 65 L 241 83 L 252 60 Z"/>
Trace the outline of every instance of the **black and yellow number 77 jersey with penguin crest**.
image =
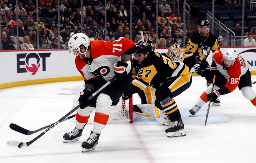
<path id="1" fill-rule="evenodd" d="M 199 32 L 196 32 L 183 50 L 181 62 L 192 68 L 196 62 L 204 62 L 211 50 L 217 49 L 219 49 L 219 44 L 215 35 L 208 33 L 206 36 L 201 36 Z"/>

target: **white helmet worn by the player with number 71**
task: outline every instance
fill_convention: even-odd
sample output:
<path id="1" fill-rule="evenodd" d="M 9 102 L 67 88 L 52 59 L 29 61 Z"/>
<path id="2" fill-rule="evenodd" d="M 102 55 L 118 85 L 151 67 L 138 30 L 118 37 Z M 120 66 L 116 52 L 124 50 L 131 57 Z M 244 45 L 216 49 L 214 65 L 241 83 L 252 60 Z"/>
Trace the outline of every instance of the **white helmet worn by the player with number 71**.
<path id="1" fill-rule="evenodd" d="M 85 52 L 80 52 L 81 54 L 84 54 L 90 46 L 90 40 L 87 35 L 83 33 L 77 33 L 73 35 L 68 41 L 68 52 L 70 54 L 74 54 L 74 50 L 80 51 L 81 45 L 84 45 L 84 47 L 86 48 Z"/>

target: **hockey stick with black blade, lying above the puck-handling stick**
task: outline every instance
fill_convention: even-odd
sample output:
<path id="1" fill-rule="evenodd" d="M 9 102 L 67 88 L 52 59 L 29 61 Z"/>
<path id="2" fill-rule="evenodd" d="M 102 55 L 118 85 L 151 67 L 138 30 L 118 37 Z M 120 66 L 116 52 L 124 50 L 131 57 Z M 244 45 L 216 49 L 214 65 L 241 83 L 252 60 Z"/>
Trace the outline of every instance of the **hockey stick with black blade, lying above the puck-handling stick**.
<path id="1" fill-rule="evenodd" d="M 73 118 L 73 117 L 75 117 L 75 116 L 76 116 L 76 114 L 71 115 L 71 116 L 65 118 L 64 120 L 62 120 L 62 121 L 60 121 L 60 122 L 63 122 L 63 121 L 65 121 L 65 120 L 69 120 L 69 119 L 71 119 L 71 118 Z M 10 124 L 10 128 L 13 129 L 14 131 L 17 131 L 17 132 L 21 133 L 21 134 L 24 134 L 24 135 L 31 135 L 31 134 L 35 134 L 35 133 L 37 133 L 38 131 L 41 131 L 41 130 L 43 130 L 43 129 L 45 129 L 45 128 L 51 127 L 52 125 L 54 125 L 54 123 L 52 123 L 52 124 L 50 124 L 50 125 L 47 125 L 47 126 L 44 126 L 44 127 L 42 127 L 42 128 L 39 128 L 39 129 L 37 129 L 37 130 L 30 131 L 30 130 L 27 130 L 27 129 L 25 129 L 25 128 L 20 127 L 19 125 L 16 125 L 16 124 L 14 124 L 14 123 L 11 123 L 11 124 Z"/>

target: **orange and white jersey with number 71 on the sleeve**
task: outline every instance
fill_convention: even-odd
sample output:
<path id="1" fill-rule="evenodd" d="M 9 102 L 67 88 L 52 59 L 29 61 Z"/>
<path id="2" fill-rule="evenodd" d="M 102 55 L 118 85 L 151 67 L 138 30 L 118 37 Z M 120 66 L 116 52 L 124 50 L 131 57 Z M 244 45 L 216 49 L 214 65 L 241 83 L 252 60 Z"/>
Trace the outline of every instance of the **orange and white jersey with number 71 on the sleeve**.
<path id="1" fill-rule="evenodd" d="M 95 40 L 90 42 L 90 58 L 83 60 L 76 56 L 77 70 L 84 77 L 84 81 L 90 79 L 104 78 L 106 81 L 115 76 L 114 64 L 121 61 L 124 52 L 135 46 L 135 44 L 124 37 L 114 42 Z M 130 61 L 127 61 L 131 65 Z"/>

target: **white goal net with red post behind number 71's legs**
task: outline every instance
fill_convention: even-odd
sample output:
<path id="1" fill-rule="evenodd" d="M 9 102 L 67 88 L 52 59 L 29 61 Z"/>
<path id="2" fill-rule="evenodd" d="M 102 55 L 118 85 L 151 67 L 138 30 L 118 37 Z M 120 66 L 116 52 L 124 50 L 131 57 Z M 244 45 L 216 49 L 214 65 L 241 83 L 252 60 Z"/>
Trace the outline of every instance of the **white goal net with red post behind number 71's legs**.
<path id="1" fill-rule="evenodd" d="M 82 86 L 82 89 L 84 90 L 84 84 Z M 79 102 L 80 94 L 78 93 L 76 97 L 73 100 L 73 106 L 72 108 L 75 108 Z M 88 123 L 92 123 L 94 119 L 95 109 L 91 113 L 91 116 L 88 120 Z M 122 98 L 119 99 L 119 102 L 116 106 L 111 106 L 108 124 L 111 123 L 119 123 L 119 122 L 130 122 L 132 123 L 132 98 L 128 100 L 122 100 Z"/>

